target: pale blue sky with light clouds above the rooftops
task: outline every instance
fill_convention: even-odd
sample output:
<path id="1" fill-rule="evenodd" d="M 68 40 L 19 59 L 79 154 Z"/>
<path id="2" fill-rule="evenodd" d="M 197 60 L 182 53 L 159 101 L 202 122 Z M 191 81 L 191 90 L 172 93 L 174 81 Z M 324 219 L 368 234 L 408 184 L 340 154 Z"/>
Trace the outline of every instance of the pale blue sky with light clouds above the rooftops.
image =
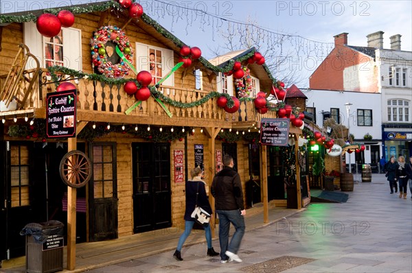
<path id="1" fill-rule="evenodd" d="M 96 0 L 1 0 L 0 12 L 38 10 Z M 390 49 L 389 37 L 401 34 L 401 49 L 412 51 L 412 1 L 137 1 L 144 11 L 190 46 L 202 49 L 203 57 L 214 58 L 225 39 L 220 32 L 227 29 L 227 19 L 233 25 L 253 22 L 275 37 L 288 37 L 290 61 L 286 69 L 297 70 L 299 86 L 308 87 L 308 78 L 328 51 L 310 54 L 308 49 L 322 45 L 333 47 L 336 34 L 348 33 L 348 45 L 367 46 L 367 35 L 382 31 L 384 48 Z M 172 5 L 167 5 L 170 3 Z M 177 8 L 180 6 L 181 8 Z M 196 11 L 198 10 L 198 11 Z M 205 16 L 206 14 L 209 14 Z M 280 35 L 280 36 L 279 36 Z M 283 36 L 282 36 L 283 35 Z M 294 38 L 290 38 L 294 37 Z M 298 38 L 300 37 L 300 38 Z M 316 43 L 315 43 L 316 41 Z M 295 47 L 295 48 L 294 48 Z M 306 51 L 306 52 L 305 52 Z M 276 71 L 273 72 L 277 78 Z M 303 79 L 303 80 L 302 80 Z"/>

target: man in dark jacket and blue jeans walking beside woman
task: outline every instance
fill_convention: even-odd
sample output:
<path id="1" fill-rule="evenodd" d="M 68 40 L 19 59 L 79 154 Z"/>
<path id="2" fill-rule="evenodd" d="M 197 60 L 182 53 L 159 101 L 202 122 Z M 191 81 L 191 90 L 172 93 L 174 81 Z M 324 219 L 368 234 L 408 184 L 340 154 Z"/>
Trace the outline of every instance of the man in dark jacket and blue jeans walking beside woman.
<path id="1" fill-rule="evenodd" d="M 215 198 L 216 213 L 219 217 L 220 258 L 222 263 L 242 262 L 238 256 L 240 242 L 244 235 L 244 215 L 242 183 L 237 171 L 233 170 L 233 158 L 223 156 L 225 167 L 219 171 L 211 184 L 211 195 Z M 229 244 L 230 223 L 236 231 Z"/>

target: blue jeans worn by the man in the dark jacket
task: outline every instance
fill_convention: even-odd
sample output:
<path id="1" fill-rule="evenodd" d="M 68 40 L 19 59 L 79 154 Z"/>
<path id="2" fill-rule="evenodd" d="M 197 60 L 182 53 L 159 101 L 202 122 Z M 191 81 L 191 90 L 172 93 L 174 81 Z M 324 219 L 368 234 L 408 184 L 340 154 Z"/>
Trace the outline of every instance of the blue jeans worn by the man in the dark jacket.
<path id="1" fill-rule="evenodd" d="M 219 215 L 219 242 L 220 242 L 220 258 L 223 261 L 229 259 L 225 252 L 230 251 L 237 254 L 240 248 L 240 242 L 244 235 L 244 217 L 237 209 L 235 211 L 220 211 L 216 210 Z M 233 224 L 236 231 L 229 244 L 229 229 L 230 223 Z M 229 246 L 228 246 L 229 244 Z"/>

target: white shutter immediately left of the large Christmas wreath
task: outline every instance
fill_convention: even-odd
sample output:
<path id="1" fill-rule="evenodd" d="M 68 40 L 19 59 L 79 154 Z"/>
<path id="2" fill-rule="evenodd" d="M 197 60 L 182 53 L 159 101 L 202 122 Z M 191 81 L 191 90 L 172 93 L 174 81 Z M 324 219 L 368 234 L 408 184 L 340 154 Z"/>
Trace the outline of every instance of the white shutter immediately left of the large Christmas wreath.
<path id="1" fill-rule="evenodd" d="M 69 69 L 82 70 L 82 32 L 80 29 L 62 27 L 63 64 Z"/>

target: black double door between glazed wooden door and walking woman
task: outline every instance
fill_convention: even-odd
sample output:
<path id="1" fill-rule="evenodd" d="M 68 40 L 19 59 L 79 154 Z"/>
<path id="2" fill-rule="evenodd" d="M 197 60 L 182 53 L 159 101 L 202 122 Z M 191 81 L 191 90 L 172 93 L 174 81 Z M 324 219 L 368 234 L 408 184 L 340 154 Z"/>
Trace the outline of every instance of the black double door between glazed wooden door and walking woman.
<path id="1" fill-rule="evenodd" d="M 172 226 L 170 145 L 133 143 L 134 232 Z"/>

